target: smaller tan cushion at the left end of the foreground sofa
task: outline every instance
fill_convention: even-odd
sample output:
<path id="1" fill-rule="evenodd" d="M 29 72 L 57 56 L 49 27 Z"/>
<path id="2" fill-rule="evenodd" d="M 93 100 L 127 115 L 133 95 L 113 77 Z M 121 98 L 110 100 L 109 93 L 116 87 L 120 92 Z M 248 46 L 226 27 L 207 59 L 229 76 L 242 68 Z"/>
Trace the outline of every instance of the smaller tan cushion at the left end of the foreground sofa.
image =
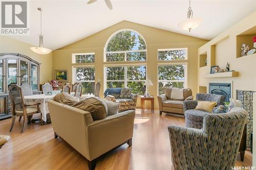
<path id="1" fill-rule="evenodd" d="M 79 102 L 79 98 L 76 98 L 75 96 L 69 93 L 58 93 L 54 96 L 53 100 L 58 103 L 62 103 L 70 106 Z"/>

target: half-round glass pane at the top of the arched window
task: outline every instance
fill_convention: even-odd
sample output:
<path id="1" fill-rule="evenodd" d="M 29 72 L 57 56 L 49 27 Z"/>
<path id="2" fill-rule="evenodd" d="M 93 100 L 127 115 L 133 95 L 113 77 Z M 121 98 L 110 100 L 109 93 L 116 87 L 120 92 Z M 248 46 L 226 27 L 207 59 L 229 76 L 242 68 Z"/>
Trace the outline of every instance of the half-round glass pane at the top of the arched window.
<path id="1" fill-rule="evenodd" d="M 107 47 L 107 52 L 145 50 L 146 44 L 143 38 L 132 31 L 123 31 L 114 35 Z"/>

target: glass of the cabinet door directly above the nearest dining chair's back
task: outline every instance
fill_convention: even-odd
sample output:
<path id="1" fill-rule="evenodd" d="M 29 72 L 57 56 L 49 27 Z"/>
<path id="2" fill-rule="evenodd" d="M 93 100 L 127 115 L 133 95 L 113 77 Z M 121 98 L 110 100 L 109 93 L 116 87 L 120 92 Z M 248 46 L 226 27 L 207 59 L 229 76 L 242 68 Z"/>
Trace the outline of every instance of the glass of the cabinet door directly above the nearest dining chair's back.
<path id="1" fill-rule="evenodd" d="M 17 59 L 7 60 L 7 85 L 10 87 L 11 83 L 17 83 Z"/>

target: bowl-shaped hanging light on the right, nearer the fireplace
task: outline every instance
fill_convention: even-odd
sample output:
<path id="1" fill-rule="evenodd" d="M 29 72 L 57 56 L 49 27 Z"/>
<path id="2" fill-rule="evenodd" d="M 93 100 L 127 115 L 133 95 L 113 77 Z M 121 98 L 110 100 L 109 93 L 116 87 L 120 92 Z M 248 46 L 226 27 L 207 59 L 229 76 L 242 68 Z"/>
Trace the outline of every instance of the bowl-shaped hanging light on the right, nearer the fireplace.
<path id="1" fill-rule="evenodd" d="M 191 2 L 189 0 L 189 7 L 187 11 L 187 19 L 181 21 L 178 26 L 183 30 L 188 30 L 189 32 L 191 29 L 194 29 L 200 25 L 202 22 L 202 18 L 200 17 L 193 17 L 193 11 L 191 9 Z"/>

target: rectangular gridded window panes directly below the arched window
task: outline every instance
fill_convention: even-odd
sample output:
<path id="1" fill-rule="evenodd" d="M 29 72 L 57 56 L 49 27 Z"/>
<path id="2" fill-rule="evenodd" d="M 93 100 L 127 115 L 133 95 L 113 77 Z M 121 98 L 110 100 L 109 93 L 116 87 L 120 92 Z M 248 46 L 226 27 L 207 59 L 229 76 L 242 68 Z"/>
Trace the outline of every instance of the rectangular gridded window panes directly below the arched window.
<path id="1" fill-rule="evenodd" d="M 107 66 L 106 88 L 129 87 L 135 94 L 143 94 L 146 80 L 146 66 Z"/>

